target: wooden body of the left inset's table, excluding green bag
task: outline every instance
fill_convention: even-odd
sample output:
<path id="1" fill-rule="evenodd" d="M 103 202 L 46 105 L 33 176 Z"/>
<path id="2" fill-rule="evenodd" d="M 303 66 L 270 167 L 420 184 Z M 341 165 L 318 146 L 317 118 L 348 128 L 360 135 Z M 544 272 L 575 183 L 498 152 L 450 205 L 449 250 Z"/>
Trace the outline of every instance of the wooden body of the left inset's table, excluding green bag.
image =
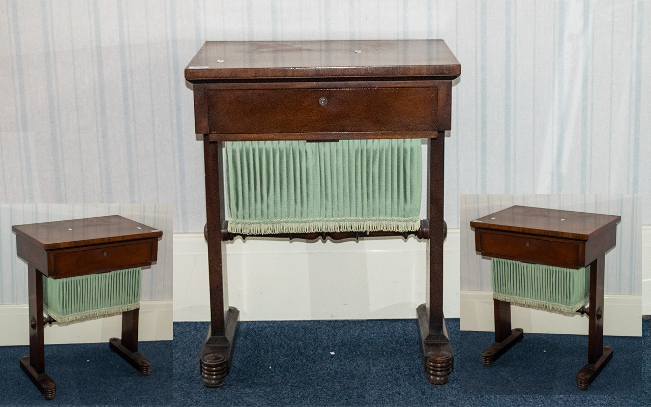
<path id="1" fill-rule="evenodd" d="M 51 400 L 57 386 L 45 372 L 43 328 L 55 320 L 43 314 L 44 276 L 59 279 L 150 266 L 163 232 L 118 215 L 11 229 L 18 257 L 27 262 L 29 272 L 29 356 L 20 358 L 20 367 Z M 138 311 L 122 313 L 122 339 L 111 338 L 109 348 L 148 376 L 150 362 L 138 353 Z"/>

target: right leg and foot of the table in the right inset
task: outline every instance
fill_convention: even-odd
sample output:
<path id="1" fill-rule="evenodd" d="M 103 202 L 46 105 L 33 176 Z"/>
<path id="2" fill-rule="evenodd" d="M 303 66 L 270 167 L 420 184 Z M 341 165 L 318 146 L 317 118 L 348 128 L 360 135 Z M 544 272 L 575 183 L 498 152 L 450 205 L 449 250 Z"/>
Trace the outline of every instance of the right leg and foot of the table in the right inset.
<path id="1" fill-rule="evenodd" d="M 588 363 L 576 375 L 579 390 L 587 390 L 613 358 L 613 348 L 603 346 L 603 273 L 605 253 L 590 263 Z"/>

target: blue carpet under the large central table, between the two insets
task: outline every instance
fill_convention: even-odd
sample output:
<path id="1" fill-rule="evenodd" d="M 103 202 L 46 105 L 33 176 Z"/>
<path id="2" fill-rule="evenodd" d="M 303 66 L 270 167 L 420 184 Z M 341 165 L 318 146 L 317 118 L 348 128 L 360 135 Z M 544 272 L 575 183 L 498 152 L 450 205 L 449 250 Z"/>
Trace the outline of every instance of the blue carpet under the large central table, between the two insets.
<path id="1" fill-rule="evenodd" d="M 458 349 L 459 320 L 447 320 Z M 240 322 L 230 375 L 203 386 L 207 322 L 174 322 L 178 406 L 456 406 L 459 369 L 427 382 L 413 320 Z M 331 354 L 335 352 L 335 354 Z"/>

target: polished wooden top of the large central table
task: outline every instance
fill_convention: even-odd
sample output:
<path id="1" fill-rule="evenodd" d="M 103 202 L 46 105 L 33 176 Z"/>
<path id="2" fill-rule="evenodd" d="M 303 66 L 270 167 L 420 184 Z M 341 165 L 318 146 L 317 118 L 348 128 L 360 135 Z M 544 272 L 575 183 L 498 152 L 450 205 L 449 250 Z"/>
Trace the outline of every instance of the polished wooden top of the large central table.
<path id="1" fill-rule="evenodd" d="M 461 64 L 443 40 L 208 41 L 187 65 L 190 82 L 210 78 L 436 76 Z"/>

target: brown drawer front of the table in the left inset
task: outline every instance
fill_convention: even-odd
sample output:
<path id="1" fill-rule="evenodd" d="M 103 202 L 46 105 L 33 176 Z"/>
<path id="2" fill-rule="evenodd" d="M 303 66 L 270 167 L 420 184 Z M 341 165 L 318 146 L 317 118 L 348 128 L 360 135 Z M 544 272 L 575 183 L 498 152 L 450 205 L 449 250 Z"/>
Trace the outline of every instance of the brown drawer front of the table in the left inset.
<path id="1" fill-rule="evenodd" d="M 54 273 L 49 277 L 72 277 L 109 270 L 139 266 L 152 261 L 151 240 L 119 246 L 53 252 Z M 104 254 L 105 253 L 105 254 Z"/>

